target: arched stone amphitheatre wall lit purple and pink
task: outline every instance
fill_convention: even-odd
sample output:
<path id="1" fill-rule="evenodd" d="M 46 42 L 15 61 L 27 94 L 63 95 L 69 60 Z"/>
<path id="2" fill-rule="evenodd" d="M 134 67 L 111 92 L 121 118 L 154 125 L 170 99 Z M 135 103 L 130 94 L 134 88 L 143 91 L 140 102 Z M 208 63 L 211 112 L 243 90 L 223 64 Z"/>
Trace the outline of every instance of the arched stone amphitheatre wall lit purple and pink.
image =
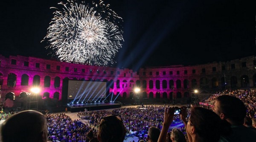
<path id="1" fill-rule="evenodd" d="M 145 67 L 139 72 L 114 67 L 98 67 L 35 57 L 0 55 L 1 99 L 9 92 L 19 96 L 40 86 L 42 97 L 62 99 L 63 80 L 113 82 L 110 93 L 128 98 L 134 87 L 141 98 L 186 99 L 194 89 L 209 93 L 229 88 L 256 87 L 256 60 L 249 56 L 227 62 L 193 66 Z"/>

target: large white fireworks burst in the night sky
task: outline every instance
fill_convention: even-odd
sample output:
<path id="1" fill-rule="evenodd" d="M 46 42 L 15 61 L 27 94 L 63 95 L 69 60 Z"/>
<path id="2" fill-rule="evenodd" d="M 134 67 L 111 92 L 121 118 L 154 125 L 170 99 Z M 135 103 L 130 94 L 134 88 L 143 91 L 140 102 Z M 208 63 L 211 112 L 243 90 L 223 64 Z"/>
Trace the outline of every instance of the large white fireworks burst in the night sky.
<path id="1" fill-rule="evenodd" d="M 114 56 L 122 47 L 122 18 L 105 5 L 67 1 L 53 13 L 47 35 L 47 49 L 54 51 L 61 61 L 105 66 L 113 64 Z"/>

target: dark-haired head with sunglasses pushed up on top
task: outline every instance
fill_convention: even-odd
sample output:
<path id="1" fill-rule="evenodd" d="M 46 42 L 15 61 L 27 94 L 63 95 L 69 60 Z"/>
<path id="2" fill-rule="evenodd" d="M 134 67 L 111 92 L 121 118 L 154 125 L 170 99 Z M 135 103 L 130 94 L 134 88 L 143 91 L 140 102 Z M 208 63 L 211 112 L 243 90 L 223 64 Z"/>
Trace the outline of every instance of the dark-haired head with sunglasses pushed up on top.
<path id="1" fill-rule="evenodd" d="M 99 123 L 98 136 L 102 142 L 123 142 L 126 129 L 121 117 L 112 115 L 102 118 Z"/>

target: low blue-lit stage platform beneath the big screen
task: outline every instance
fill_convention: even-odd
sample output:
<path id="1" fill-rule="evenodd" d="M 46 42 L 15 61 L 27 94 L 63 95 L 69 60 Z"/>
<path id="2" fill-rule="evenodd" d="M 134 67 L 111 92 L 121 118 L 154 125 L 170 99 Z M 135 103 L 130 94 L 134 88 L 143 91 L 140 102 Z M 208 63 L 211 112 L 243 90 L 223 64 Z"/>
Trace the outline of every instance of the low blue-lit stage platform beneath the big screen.
<path id="1" fill-rule="evenodd" d="M 68 111 L 71 112 L 79 112 L 84 111 L 94 111 L 101 109 L 115 109 L 120 108 L 121 105 L 119 103 L 81 103 L 81 104 L 71 104 L 68 106 Z"/>

